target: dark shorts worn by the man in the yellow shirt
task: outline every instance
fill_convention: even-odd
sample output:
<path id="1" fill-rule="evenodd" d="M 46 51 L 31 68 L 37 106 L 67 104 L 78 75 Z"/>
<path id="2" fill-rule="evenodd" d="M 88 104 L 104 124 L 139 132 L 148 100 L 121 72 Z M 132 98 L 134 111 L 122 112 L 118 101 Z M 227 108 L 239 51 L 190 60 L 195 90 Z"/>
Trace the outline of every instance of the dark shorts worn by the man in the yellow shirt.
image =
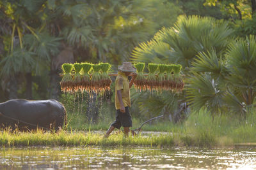
<path id="1" fill-rule="evenodd" d="M 132 118 L 129 113 L 128 106 L 125 107 L 125 113 L 122 113 L 120 110 L 116 110 L 116 120 L 113 122 L 113 127 L 120 129 L 120 127 L 132 127 Z"/>

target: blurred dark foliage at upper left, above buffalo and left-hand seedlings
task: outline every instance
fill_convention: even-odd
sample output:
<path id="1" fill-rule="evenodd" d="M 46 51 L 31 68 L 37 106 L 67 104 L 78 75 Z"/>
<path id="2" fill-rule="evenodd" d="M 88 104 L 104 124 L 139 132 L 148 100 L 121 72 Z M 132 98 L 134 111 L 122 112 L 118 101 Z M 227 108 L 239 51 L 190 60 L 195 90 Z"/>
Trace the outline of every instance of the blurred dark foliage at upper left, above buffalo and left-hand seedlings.
<path id="1" fill-rule="evenodd" d="M 135 45 L 172 25 L 177 11 L 164 0 L 1 1 L 0 100 L 58 98 L 61 64 L 121 64 Z"/>

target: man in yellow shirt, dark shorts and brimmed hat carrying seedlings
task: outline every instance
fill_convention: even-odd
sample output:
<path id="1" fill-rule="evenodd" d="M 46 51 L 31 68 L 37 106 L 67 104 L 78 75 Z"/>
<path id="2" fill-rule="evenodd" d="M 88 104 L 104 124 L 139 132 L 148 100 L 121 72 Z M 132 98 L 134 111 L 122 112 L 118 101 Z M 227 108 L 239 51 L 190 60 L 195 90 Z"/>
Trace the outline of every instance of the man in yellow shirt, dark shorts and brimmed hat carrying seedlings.
<path id="1" fill-rule="evenodd" d="M 108 138 L 115 128 L 120 129 L 121 126 L 124 127 L 125 137 L 129 136 L 130 127 L 132 127 L 132 118 L 129 113 L 129 107 L 131 107 L 130 88 L 136 78 L 135 71 L 136 69 L 131 62 L 124 62 L 122 66 L 118 66 L 118 76 L 116 76 L 115 81 L 116 120 L 104 135 L 105 138 Z M 134 74 L 129 81 L 127 76 L 131 73 Z"/>

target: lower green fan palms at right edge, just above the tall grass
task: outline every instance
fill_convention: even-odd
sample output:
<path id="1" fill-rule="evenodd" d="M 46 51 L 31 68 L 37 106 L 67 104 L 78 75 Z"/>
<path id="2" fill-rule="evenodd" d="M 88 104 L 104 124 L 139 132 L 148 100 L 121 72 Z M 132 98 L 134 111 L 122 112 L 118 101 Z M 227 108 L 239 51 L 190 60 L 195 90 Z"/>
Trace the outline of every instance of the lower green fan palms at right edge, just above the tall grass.
<path id="1" fill-rule="evenodd" d="M 189 100 L 197 109 L 231 110 L 244 117 L 256 96 L 255 64 L 255 36 L 230 43 L 224 59 L 218 59 L 214 51 L 200 54 L 189 79 Z"/>

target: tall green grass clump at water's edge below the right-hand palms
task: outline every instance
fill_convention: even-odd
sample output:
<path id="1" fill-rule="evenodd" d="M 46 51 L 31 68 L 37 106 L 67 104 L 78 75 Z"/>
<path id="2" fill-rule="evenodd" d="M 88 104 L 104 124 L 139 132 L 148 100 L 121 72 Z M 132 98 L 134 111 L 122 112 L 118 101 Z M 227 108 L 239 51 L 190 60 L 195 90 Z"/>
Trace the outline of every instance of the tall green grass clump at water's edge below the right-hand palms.
<path id="1" fill-rule="evenodd" d="M 218 115 L 212 119 L 208 111 L 192 113 L 184 123 L 184 145 L 232 146 L 256 142 L 256 113 L 248 110 L 244 119 L 236 115 Z"/>

